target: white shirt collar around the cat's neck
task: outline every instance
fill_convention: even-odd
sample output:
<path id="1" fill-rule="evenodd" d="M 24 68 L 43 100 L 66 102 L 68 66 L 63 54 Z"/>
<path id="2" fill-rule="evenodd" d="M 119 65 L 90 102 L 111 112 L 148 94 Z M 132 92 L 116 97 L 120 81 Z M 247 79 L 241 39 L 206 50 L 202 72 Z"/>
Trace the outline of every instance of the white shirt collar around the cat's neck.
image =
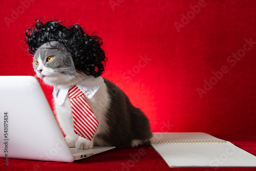
<path id="1" fill-rule="evenodd" d="M 75 83 L 75 85 L 83 92 L 84 95 L 86 95 L 90 99 L 99 90 L 103 82 L 104 80 L 101 76 L 97 78 L 89 76 Z M 59 88 L 58 86 L 55 86 L 52 92 L 55 102 L 57 102 L 58 105 L 62 105 L 66 99 L 68 92 L 69 88 Z"/>

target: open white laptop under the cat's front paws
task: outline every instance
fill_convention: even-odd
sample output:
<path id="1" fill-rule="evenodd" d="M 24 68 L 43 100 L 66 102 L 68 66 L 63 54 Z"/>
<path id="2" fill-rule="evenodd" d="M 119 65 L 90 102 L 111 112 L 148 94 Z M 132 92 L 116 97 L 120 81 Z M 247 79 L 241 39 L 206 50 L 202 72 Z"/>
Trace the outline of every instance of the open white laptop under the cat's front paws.
<path id="1" fill-rule="evenodd" d="M 73 162 L 114 146 L 69 148 L 38 80 L 0 76 L 0 157 Z"/>

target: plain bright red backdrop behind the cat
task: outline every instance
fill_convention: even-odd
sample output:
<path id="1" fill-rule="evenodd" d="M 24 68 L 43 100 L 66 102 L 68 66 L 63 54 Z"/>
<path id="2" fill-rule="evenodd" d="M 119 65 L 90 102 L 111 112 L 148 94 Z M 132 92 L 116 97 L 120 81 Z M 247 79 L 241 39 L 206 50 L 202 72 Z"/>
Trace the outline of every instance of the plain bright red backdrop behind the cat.
<path id="1" fill-rule="evenodd" d="M 102 76 L 142 109 L 153 132 L 256 134 L 256 44 L 243 50 L 245 39 L 256 42 L 254 1 L 22 0 L 0 9 L 0 75 L 35 74 L 24 42 L 35 18 L 81 23 L 103 40 Z M 240 60 L 229 57 L 236 53 Z M 214 85 L 200 96 L 205 80 Z M 52 103 L 52 88 L 41 84 Z"/>

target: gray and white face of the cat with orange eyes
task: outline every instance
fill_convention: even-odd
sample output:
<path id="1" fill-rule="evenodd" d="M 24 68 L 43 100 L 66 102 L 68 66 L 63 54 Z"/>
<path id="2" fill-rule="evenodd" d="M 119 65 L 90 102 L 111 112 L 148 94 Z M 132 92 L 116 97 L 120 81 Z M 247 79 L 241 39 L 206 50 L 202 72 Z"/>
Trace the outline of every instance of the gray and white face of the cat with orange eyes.
<path id="1" fill-rule="evenodd" d="M 67 84 L 78 76 L 71 54 L 57 41 L 36 50 L 33 67 L 36 75 L 51 85 Z"/>

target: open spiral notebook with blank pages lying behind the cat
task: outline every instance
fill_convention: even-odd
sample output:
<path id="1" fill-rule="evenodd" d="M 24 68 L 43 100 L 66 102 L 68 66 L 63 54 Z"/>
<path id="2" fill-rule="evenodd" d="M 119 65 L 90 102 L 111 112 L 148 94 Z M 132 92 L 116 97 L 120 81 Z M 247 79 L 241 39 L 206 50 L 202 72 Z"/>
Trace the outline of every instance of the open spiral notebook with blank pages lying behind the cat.
<path id="1" fill-rule="evenodd" d="M 205 133 L 153 133 L 153 148 L 170 167 L 256 166 L 256 157 Z"/>

